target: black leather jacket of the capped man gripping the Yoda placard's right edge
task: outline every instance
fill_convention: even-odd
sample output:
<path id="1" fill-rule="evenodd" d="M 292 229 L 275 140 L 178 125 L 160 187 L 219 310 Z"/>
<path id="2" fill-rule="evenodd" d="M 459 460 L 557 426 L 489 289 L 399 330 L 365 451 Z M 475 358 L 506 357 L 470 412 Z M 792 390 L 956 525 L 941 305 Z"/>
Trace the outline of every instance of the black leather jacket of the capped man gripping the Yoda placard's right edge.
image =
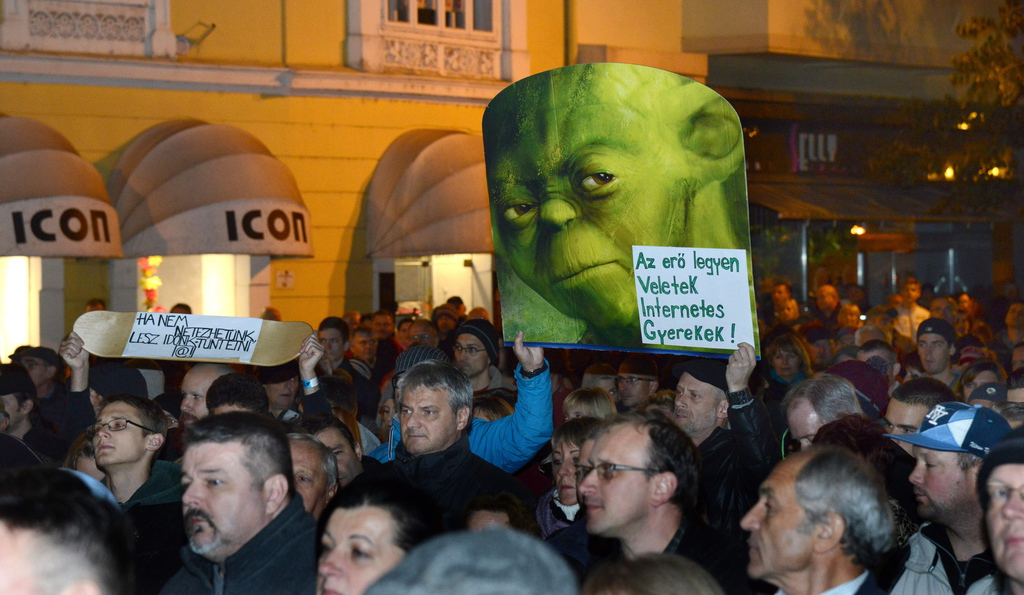
<path id="1" fill-rule="evenodd" d="M 739 520 L 758 501 L 758 487 L 781 457 L 768 410 L 750 391 L 729 393 L 729 425 L 716 428 L 700 451 L 700 495 L 712 527 L 743 540 Z"/>

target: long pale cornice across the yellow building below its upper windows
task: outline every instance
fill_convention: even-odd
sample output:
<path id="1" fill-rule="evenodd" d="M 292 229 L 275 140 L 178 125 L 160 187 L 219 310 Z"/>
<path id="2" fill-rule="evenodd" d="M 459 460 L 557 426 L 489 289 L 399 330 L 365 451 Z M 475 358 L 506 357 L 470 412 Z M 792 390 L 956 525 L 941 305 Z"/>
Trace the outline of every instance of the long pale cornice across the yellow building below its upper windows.
<path id="1" fill-rule="evenodd" d="M 0 52 L 0 82 L 486 105 L 506 82 Z"/>

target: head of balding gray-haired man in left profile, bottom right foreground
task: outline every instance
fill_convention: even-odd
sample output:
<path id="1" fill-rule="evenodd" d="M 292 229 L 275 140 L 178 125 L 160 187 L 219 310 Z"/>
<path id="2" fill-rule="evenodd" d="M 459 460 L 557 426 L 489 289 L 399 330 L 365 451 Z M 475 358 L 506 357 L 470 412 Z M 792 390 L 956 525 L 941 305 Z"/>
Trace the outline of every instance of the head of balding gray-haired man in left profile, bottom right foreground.
<path id="1" fill-rule="evenodd" d="M 884 593 L 867 568 L 895 544 L 892 508 L 878 472 L 853 453 L 814 448 L 787 457 L 742 526 L 751 532 L 748 573 L 782 595 Z"/>

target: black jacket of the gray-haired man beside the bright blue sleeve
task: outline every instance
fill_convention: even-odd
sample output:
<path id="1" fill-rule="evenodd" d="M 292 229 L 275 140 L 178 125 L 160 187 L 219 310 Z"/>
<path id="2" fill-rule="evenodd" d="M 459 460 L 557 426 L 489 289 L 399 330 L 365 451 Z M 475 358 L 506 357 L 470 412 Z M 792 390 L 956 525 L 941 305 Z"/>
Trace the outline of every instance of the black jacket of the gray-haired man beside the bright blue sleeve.
<path id="1" fill-rule="evenodd" d="M 462 526 L 466 505 L 477 496 L 511 494 L 534 507 L 534 495 L 526 486 L 470 452 L 469 437 L 465 435 L 440 453 L 415 458 L 399 443 L 394 460 L 364 472 L 356 480 L 380 477 L 401 479 L 432 496 L 444 511 L 449 528 Z"/>

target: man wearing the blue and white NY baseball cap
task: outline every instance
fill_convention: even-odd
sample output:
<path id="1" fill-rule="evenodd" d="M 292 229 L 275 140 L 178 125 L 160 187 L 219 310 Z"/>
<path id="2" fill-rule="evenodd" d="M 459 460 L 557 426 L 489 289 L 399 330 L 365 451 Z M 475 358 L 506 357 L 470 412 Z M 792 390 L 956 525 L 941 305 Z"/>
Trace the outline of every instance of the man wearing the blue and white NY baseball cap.
<path id="1" fill-rule="evenodd" d="M 997 593 L 977 485 L 982 459 L 1008 433 L 992 410 L 951 401 L 932 408 L 915 433 L 887 434 L 913 445 L 910 482 L 930 522 L 891 557 L 880 586 L 895 595 Z"/>

